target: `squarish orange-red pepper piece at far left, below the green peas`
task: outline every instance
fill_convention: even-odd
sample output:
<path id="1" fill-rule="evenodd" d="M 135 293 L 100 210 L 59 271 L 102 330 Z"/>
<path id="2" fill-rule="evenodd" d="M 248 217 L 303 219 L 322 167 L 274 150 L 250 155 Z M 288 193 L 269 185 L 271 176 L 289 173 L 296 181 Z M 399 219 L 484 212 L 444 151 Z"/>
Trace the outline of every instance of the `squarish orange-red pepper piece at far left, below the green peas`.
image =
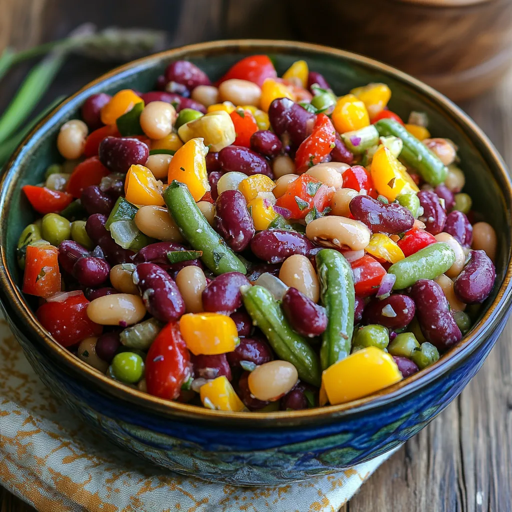
<path id="1" fill-rule="evenodd" d="M 38 297 L 51 297 L 60 291 L 58 249 L 53 245 L 27 246 L 23 292 Z"/>

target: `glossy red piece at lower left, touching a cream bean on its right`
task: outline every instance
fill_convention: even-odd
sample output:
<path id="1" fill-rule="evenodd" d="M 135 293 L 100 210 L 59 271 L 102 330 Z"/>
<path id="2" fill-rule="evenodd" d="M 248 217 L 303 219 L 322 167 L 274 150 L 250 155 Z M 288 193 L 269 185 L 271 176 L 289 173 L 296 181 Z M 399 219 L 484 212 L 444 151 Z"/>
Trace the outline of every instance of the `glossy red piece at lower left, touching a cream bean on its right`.
<path id="1" fill-rule="evenodd" d="M 103 332 L 103 326 L 95 324 L 87 316 L 89 304 L 83 293 L 71 295 L 66 300 L 39 306 L 36 316 L 62 347 L 71 347 L 82 339 L 99 336 Z"/>

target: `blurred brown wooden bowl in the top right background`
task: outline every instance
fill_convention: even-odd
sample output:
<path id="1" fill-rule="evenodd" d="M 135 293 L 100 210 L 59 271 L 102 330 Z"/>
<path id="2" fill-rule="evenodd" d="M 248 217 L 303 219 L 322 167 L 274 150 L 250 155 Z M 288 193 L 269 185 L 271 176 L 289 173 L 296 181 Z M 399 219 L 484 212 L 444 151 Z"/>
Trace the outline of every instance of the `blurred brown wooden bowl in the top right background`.
<path id="1" fill-rule="evenodd" d="M 315 0 L 313 25 L 311 3 L 293 3 L 304 39 L 387 62 L 456 101 L 493 86 L 512 61 L 510 0 Z"/>

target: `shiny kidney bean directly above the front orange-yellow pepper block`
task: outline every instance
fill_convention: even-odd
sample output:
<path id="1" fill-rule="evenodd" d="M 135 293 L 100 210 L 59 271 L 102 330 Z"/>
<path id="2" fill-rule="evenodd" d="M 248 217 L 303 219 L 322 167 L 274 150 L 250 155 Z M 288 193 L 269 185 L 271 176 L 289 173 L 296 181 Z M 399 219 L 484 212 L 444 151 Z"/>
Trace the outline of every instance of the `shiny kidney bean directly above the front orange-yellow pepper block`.
<path id="1" fill-rule="evenodd" d="M 226 272 L 218 275 L 203 290 L 203 309 L 215 313 L 232 313 L 242 306 L 240 287 L 250 285 L 241 272 Z"/>

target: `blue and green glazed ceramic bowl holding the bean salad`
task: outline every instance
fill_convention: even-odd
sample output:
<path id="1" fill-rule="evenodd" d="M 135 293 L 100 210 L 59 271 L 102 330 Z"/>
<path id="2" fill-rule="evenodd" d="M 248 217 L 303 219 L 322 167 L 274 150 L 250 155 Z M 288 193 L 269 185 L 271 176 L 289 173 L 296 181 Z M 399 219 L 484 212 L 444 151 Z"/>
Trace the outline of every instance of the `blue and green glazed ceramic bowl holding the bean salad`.
<path id="1" fill-rule="evenodd" d="M 351 403 L 306 411 L 225 413 L 143 394 L 99 374 L 55 343 L 33 314 L 33 298 L 19 289 L 16 241 L 34 218 L 20 188 L 42 181 L 45 168 L 58 161 L 59 127 L 78 117 L 88 96 L 124 88 L 151 90 L 174 59 L 190 59 L 216 79 L 233 62 L 256 53 L 270 54 L 279 73 L 305 59 L 337 93 L 369 82 L 388 83 L 393 111 L 402 116 L 411 110 L 426 112 L 432 133 L 460 147 L 465 190 L 498 233 L 496 286 L 471 332 L 435 365 Z M 238 485 L 286 483 L 391 450 L 432 421 L 475 375 L 510 309 L 511 202 L 507 170 L 493 145 L 453 103 L 414 78 L 365 57 L 298 42 L 210 42 L 147 57 L 100 77 L 62 103 L 18 148 L 0 195 L 0 297 L 37 374 L 98 432 L 182 474 Z"/>

